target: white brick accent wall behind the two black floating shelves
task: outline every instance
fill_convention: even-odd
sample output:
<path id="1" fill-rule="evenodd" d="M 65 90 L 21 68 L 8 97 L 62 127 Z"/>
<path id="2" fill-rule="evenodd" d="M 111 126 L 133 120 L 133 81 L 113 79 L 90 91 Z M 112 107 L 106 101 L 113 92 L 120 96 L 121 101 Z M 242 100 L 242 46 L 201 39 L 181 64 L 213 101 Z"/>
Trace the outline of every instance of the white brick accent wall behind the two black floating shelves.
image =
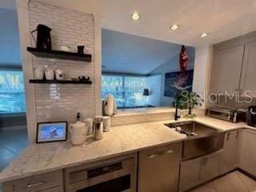
<path id="1" fill-rule="evenodd" d="M 74 10 L 50 6 L 31 1 L 29 5 L 30 31 L 38 24 L 49 26 L 52 49 L 58 46 L 70 46 L 77 52 L 77 46 L 85 46 L 85 52 L 92 54 L 92 62 L 52 60 L 32 56 L 33 67 L 48 65 L 52 69 L 64 70 L 67 78 L 90 76 L 92 85 L 75 84 L 34 84 L 37 122 L 68 121 L 74 122 L 76 114 L 82 112 L 83 118 L 95 115 L 95 66 L 94 66 L 94 18 Z M 35 33 L 36 36 L 36 33 Z M 31 37 L 31 46 L 35 42 Z"/>

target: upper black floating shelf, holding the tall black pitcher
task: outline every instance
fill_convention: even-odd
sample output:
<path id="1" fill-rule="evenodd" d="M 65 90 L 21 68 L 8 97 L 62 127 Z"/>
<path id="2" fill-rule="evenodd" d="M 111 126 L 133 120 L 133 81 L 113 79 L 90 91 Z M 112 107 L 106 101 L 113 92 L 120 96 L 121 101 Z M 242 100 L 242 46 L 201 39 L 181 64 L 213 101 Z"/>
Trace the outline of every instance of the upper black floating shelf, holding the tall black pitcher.
<path id="1" fill-rule="evenodd" d="M 39 58 L 58 58 L 74 61 L 91 62 L 91 54 L 78 54 L 62 50 L 38 50 L 34 47 L 26 47 L 26 50 Z"/>

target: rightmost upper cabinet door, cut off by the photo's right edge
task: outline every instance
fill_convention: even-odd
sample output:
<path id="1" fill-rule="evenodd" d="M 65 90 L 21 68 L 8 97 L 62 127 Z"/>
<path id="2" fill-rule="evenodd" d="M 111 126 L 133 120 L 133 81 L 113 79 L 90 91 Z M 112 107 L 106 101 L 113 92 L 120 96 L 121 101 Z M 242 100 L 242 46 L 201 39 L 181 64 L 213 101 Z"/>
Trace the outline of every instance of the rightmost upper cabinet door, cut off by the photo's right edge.
<path id="1" fill-rule="evenodd" d="M 240 89 L 242 95 L 256 96 L 256 42 L 247 44 L 242 65 Z M 247 92 L 246 91 L 251 91 Z"/>

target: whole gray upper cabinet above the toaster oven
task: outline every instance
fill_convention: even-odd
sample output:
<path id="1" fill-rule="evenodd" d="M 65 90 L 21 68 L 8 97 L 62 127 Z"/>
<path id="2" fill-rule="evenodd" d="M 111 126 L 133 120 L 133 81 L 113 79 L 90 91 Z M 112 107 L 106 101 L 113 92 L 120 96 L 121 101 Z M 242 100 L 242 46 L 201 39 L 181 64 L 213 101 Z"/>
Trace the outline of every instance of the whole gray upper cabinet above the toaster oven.
<path id="1" fill-rule="evenodd" d="M 214 45 L 210 92 L 225 94 L 235 91 L 242 96 L 256 97 L 256 33 Z M 245 92 L 246 90 L 252 93 Z"/>

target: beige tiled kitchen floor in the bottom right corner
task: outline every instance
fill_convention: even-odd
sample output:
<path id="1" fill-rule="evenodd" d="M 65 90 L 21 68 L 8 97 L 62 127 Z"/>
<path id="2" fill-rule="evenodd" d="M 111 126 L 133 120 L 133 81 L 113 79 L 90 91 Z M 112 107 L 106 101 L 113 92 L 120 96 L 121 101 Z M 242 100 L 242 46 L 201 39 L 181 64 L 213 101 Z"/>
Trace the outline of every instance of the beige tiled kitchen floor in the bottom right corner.
<path id="1" fill-rule="evenodd" d="M 256 181 L 239 171 L 234 171 L 190 192 L 256 192 Z"/>

